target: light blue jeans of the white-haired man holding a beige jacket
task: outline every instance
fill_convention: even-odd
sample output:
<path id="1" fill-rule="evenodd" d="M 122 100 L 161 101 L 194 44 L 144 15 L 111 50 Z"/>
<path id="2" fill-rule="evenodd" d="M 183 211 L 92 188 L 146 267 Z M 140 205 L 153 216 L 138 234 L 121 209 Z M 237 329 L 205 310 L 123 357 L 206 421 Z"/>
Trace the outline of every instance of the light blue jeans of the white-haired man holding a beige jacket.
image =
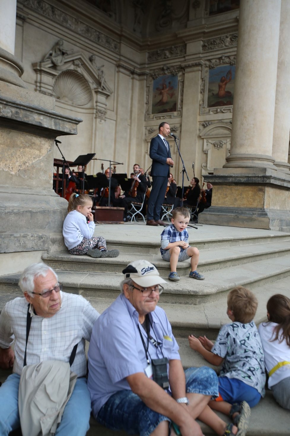
<path id="1" fill-rule="evenodd" d="M 20 428 L 18 390 L 20 375 L 11 374 L 0 387 L 0 435 Z M 65 406 L 57 436 L 84 436 L 89 429 L 91 398 L 85 377 L 78 378 Z"/>

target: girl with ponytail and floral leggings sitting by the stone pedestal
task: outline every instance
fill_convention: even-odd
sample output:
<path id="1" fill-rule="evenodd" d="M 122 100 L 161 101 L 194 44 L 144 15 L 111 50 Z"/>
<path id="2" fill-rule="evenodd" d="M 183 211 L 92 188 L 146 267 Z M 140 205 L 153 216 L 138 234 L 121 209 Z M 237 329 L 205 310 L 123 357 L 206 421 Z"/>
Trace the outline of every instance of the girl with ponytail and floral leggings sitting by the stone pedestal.
<path id="1" fill-rule="evenodd" d="M 118 250 L 108 250 L 102 236 L 93 236 L 94 217 L 91 213 L 93 201 L 89 195 L 71 194 L 67 216 L 64 220 L 62 234 L 64 243 L 71 254 L 88 254 L 91 257 L 117 257 Z"/>

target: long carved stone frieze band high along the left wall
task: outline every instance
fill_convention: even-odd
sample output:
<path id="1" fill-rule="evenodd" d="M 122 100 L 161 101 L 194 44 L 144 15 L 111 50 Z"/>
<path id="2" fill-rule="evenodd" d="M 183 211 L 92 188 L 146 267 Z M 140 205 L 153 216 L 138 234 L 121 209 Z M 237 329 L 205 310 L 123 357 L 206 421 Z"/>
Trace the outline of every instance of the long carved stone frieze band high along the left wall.
<path id="1" fill-rule="evenodd" d="M 60 23 L 63 27 L 70 29 L 78 34 L 87 37 L 91 41 L 97 42 L 98 44 L 108 48 L 111 51 L 119 53 L 120 44 L 114 41 L 112 38 L 106 36 L 105 34 L 95 30 L 93 27 L 88 26 L 88 24 L 77 20 L 73 16 L 64 13 L 62 10 L 57 9 L 57 7 L 46 3 L 44 0 L 21 0 L 22 4 L 32 9 L 51 20 Z"/>

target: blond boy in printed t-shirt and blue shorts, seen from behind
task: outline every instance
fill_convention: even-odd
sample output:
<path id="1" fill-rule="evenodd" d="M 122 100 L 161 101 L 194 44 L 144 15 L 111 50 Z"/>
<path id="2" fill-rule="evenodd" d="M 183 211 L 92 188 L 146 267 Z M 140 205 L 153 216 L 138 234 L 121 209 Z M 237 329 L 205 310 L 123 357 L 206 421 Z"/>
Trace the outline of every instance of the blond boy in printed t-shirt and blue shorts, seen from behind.
<path id="1" fill-rule="evenodd" d="M 209 406 L 229 415 L 233 423 L 247 421 L 250 407 L 265 395 L 264 354 L 260 335 L 253 321 L 258 301 L 254 294 L 237 286 L 229 292 L 227 315 L 232 321 L 225 324 L 215 344 L 206 336 L 189 336 L 189 346 L 209 363 L 223 367 L 219 373 L 219 397 Z M 249 407 L 250 406 L 250 407 Z"/>

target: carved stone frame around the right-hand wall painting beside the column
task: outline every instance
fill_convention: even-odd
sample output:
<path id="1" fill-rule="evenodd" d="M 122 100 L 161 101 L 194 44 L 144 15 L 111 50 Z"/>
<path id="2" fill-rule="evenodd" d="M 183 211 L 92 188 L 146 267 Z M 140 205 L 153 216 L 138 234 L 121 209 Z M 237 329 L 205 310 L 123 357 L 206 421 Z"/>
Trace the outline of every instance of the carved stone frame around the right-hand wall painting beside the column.
<path id="1" fill-rule="evenodd" d="M 236 56 L 221 56 L 220 58 L 209 59 L 204 62 L 202 67 L 202 81 L 200 85 L 201 99 L 199 100 L 199 113 L 205 115 L 209 113 L 231 113 L 233 106 L 206 107 L 208 88 L 209 88 L 209 69 L 216 68 L 219 65 L 236 65 Z"/>

